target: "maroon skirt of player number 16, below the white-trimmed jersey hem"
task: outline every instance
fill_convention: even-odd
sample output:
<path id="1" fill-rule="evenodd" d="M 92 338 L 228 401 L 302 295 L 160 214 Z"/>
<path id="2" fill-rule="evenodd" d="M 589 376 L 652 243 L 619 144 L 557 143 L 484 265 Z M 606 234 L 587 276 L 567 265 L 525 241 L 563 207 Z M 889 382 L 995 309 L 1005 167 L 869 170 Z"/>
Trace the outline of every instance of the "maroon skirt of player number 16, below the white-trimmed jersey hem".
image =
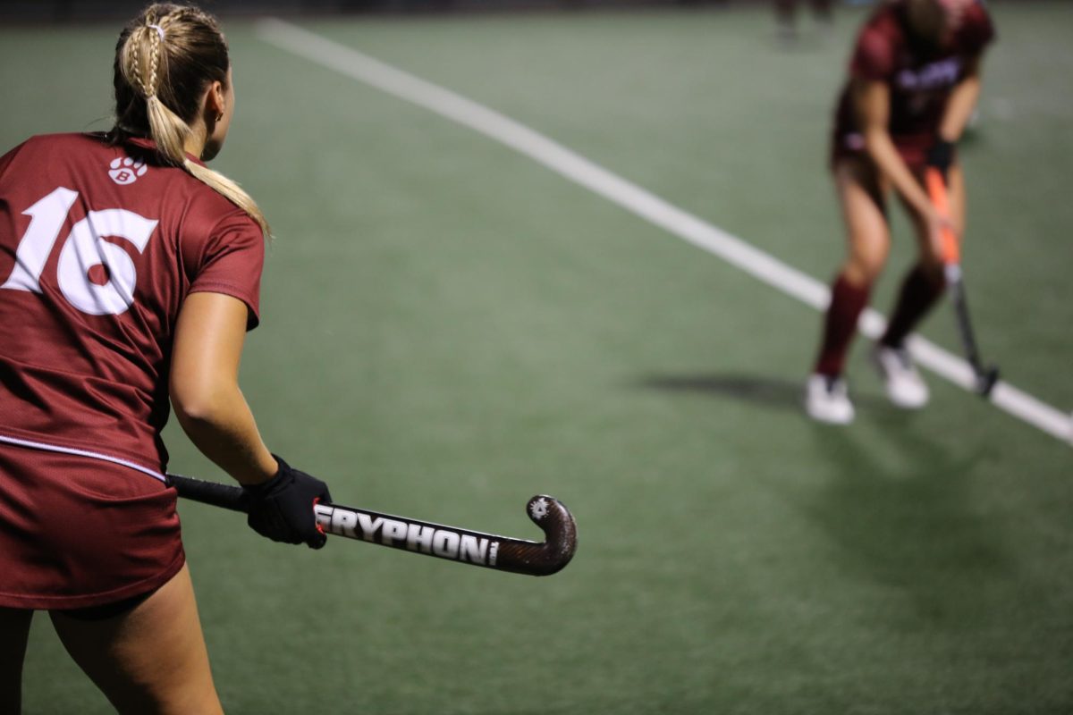
<path id="1" fill-rule="evenodd" d="M 164 585 L 186 562 L 176 500 L 126 466 L 0 444 L 0 607 L 88 608 Z"/>

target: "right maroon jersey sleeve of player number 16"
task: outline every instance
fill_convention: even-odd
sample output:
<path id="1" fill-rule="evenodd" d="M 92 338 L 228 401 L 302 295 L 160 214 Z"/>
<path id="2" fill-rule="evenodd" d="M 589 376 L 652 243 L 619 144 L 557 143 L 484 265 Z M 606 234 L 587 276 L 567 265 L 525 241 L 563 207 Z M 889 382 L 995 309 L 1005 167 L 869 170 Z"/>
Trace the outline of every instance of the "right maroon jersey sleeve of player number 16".
<path id="1" fill-rule="evenodd" d="M 249 310 L 247 330 L 261 322 L 261 271 L 265 239 L 258 224 L 236 212 L 218 222 L 199 248 L 190 293 L 222 293 L 238 298 Z"/>

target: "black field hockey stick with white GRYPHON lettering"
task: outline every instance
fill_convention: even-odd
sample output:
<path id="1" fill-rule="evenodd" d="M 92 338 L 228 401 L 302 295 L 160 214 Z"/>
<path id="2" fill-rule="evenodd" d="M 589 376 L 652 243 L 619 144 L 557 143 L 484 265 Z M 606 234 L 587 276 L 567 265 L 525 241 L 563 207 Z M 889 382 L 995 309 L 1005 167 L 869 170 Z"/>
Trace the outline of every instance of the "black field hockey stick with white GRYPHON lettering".
<path id="1" fill-rule="evenodd" d="M 183 498 L 249 511 L 249 495 L 240 487 L 175 474 L 167 478 Z M 544 532 L 543 543 L 340 504 L 318 504 L 313 510 L 326 534 L 513 574 L 550 576 L 569 564 L 577 549 L 574 517 L 553 496 L 536 495 L 526 505 L 526 513 Z"/>

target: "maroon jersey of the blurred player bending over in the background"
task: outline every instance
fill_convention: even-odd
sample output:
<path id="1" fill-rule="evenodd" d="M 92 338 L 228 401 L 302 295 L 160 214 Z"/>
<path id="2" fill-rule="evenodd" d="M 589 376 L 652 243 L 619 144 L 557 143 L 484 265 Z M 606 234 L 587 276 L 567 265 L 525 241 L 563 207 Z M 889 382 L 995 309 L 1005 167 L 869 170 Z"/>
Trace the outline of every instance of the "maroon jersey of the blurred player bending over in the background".
<path id="1" fill-rule="evenodd" d="M 899 0 L 883 4 L 861 29 L 850 60 L 850 80 L 882 81 L 890 88 L 888 129 L 908 163 L 923 162 L 936 140 L 951 92 L 965 78 L 970 60 L 994 35 L 990 18 L 980 2 L 966 10 L 958 28 L 938 46 L 913 36 L 906 4 Z M 834 141 L 836 157 L 864 147 L 849 81 L 838 101 Z"/>

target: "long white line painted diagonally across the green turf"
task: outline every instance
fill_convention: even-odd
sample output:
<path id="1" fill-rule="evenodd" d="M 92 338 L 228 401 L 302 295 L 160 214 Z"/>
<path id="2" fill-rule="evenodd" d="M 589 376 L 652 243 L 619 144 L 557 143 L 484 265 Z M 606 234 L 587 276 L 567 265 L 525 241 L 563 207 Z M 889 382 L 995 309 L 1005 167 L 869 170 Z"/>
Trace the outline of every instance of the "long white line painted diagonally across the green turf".
<path id="1" fill-rule="evenodd" d="M 811 275 L 788 266 L 488 107 L 283 20 L 275 18 L 260 20 L 256 32 L 265 42 L 293 55 L 412 102 L 504 144 L 574 183 L 719 256 L 767 285 L 817 310 L 825 310 L 831 300 L 827 286 Z M 861 331 L 876 339 L 882 333 L 885 323 L 880 313 L 868 309 L 861 318 Z M 920 336 L 910 339 L 909 348 L 921 366 L 955 385 L 967 390 L 972 389 L 972 369 L 965 360 Z M 1073 442 L 1073 419 L 1070 415 L 1041 402 L 1009 383 L 999 382 L 989 399 L 996 406 L 1014 417 L 1059 440 Z"/>

